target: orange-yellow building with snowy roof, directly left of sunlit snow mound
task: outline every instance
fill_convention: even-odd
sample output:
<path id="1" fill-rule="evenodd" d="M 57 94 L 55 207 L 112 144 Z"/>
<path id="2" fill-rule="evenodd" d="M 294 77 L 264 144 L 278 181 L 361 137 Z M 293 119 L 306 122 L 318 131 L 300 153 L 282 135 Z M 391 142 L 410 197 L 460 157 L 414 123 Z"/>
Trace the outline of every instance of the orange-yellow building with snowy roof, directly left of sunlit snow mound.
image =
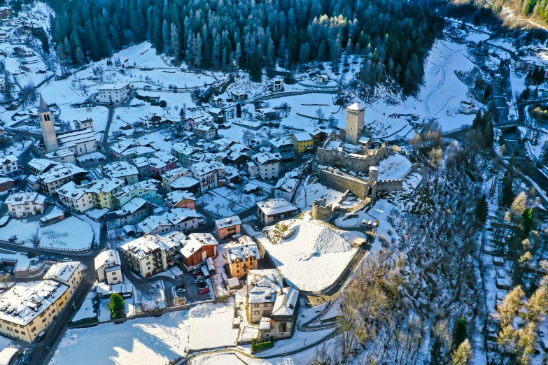
<path id="1" fill-rule="evenodd" d="M 241 279 L 248 271 L 258 269 L 259 248 L 249 236 L 240 236 L 237 241 L 227 243 L 225 252 L 232 278 Z"/>

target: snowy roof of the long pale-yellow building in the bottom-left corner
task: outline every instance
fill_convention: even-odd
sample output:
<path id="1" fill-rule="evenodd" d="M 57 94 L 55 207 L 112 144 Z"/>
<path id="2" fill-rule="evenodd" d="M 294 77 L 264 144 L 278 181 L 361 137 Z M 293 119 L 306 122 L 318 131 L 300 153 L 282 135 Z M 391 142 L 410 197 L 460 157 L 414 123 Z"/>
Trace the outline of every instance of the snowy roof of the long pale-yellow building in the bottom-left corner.
<path id="1" fill-rule="evenodd" d="M 26 326 L 55 306 L 68 289 L 55 280 L 43 280 L 33 286 L 14 285 L 0 298 L 0 320 Z"/>

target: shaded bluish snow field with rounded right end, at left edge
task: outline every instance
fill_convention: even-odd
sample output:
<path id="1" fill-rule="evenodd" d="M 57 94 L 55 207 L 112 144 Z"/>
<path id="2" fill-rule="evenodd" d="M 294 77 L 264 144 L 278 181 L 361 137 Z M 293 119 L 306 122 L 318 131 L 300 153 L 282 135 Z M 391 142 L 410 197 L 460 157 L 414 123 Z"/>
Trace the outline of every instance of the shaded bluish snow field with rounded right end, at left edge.
<path id="1" fill-rule="evenodd" d="M 36 220 L 12 219 L 0 228 L 0 239 L 8 240 L 16 235 L 17 241 L 25 241 L 25 245 L 32 247 L 30 241 L 36 231 L 41 238 L 40 248 L 46 250 L 83 250 L 90 248 L 93 241 L 92 227 L 76 217 L 68 217 L 47 227 L 40 227 Z"/>

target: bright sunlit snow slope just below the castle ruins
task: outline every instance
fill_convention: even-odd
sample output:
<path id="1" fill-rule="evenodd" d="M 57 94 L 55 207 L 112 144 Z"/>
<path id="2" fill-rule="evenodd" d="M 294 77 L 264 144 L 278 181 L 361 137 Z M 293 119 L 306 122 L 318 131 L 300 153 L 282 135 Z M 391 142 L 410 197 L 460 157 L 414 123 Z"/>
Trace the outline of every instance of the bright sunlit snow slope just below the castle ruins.
<path id="1" fill-rule="evenodd" d="M 309 291 L 335 282 L 357 252 L 351 243 L 365 238 L 357 231 L 330 228 L 309 215 L 279 222 L 264 232 L 266 236 L 258 239 L 283 278 L 290 285 Z"/>

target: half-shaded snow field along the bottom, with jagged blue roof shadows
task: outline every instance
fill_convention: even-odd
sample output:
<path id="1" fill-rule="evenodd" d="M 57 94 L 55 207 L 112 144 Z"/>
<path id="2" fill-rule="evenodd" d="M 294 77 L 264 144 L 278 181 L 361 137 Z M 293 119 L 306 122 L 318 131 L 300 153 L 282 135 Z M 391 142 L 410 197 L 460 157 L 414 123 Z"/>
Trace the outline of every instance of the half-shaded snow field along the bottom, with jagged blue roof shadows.
<path id="1" fill-rule="evenodd" d="M 199 350 L 234 345 L 238 330 L 232 329 L 233 317 L 234 299 L 230 299 L 161 317 L 69 329 L 50 364 L 81 364 L 83 359 L 88 365 L 166 364 L 183 355 L 187 347 Z"/>

